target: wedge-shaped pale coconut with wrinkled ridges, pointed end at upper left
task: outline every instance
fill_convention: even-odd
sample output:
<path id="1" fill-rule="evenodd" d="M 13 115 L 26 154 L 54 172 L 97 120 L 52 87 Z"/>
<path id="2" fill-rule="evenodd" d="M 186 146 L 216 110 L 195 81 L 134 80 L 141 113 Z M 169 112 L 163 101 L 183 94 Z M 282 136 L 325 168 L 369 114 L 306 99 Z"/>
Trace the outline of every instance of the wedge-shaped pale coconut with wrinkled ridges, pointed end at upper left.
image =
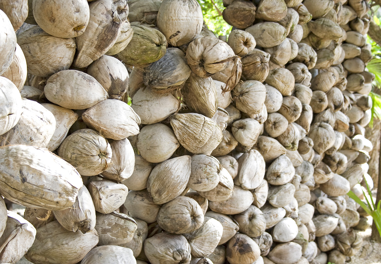
<path id="1" fill-rule="evenodd" d="M 201 114 L 174 114 L 170 122 L 180 144 L 194 154 L 210 155 L 223 137 L 218 124 Z"/>

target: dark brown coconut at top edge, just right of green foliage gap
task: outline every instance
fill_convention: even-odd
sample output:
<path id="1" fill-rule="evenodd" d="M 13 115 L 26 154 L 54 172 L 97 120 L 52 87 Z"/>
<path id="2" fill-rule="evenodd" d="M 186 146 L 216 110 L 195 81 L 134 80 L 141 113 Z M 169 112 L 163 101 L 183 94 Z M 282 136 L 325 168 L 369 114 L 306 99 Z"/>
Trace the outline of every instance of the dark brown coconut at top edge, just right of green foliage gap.
<path id="1" fill-rule="evenodd" d="M 255 11 L 256 6 L 253 3 L 236 0 L 226 6 L 222 12 L 222 16 L 229 25 L 239 29 L 245 29 L 253 24 L 256 14 Z"/>

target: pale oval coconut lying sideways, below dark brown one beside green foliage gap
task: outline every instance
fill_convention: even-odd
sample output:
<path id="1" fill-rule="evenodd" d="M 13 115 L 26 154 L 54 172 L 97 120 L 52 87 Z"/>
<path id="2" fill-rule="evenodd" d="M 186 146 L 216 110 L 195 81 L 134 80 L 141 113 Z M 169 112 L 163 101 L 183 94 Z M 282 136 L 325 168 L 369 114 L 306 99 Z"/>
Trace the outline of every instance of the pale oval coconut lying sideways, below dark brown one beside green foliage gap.
<path id="1" fill-rule="evenodd" d="M 274 9 L 273 7 L 274 6 L 272 6 L 272 10 Z M 286 14 L 287 8 L 284 9 L 284 16 Z M 258 16 L 258 12 L 256 16 Z M 279 14 L 277 14 L 277 16 L 279 16 Z M 288 32 L 285 29 L 285 27 L 281 26 L 278 23 L 267 21 L 256 23 L 254 26 L 245 29 L 245 31 L 253 35 L 257 44 L 263 48 L 271 48 L 279 45 L 283 42 L 283 40 L 286 39 L 286 36 L 288 35 Z"/>

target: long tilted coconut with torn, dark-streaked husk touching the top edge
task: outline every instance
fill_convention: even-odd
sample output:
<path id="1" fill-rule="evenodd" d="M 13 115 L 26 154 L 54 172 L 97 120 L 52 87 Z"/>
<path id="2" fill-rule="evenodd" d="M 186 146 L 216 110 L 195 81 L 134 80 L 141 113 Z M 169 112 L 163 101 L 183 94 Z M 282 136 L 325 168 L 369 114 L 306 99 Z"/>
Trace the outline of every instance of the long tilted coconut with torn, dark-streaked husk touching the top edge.
<path id="1" fill-rule="evenodd" d="M 115 44 L 128 16 L 128 5 L 123 0 L 96 1 L 89 7 L 90 19 L 86 31 L 76 37 L 78 53 L 73 66 L 77 68 L 85 68 Z"/>

